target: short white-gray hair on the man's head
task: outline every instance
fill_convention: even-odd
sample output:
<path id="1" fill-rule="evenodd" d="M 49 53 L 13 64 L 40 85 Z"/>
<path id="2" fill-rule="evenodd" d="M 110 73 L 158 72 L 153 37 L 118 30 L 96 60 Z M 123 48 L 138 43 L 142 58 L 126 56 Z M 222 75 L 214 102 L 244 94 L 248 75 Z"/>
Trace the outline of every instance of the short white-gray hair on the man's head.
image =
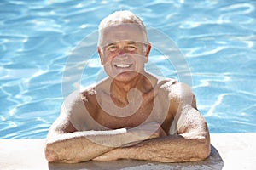
<path id="1" fill-rule="evenodd" d="M 102 48 L 102 39 L 103 34 L 102 31 L 108 26 L 115 26 L 120 24 L 136 24 L 143 31 L 143 37 L 145 38 L 145 42 L 148 42 L 148 33 L 146 27 L 143 24 L 143 21 L 136 15 L 131 13 L 129 10 L 124 11 L 116 11 L 113 14 L 109 14 L 106 18 L 104 18 L 99 25 L 99 38 L 98 38 L 98 46 Z"/>

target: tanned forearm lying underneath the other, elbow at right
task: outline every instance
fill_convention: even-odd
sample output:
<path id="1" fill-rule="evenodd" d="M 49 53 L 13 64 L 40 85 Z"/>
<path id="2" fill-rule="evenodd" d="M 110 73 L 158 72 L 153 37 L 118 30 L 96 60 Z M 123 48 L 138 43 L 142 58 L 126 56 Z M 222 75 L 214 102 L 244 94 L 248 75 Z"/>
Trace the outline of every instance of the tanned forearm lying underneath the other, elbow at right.
<path id="1" fill-rule="evenodd" d="M 207 139 L 184 139 L 181 135 L 149 139 L 131 147 L 110 150 L 96 161 L 136 159 L 160 162 L 201 161 L 209 155 Z"/>

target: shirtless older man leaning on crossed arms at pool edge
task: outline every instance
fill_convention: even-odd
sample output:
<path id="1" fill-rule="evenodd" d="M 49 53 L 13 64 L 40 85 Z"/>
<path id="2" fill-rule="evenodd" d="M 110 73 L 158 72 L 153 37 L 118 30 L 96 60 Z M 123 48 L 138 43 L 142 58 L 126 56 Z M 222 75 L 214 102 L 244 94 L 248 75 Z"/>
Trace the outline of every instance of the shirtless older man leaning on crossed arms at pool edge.
<path id="1" fill-rule="evenodd" d="M 108 77 L 70 94 L 49 128 L 49 162 L 136 159 L 201 161 L 210 154 L 207 122 L 183 82 L 145 71 L 151 45 L 130 11 L 108 15 L 97 51 Z"/>

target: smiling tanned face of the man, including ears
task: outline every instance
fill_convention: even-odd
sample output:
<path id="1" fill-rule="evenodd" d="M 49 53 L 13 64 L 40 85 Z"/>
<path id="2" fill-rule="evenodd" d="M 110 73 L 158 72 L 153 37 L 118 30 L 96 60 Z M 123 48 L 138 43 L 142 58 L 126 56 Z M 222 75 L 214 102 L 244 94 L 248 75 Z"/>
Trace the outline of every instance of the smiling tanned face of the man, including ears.
<path id="1" fill-rule="evenodd" d="M 144 73 L 150 48 L 139 26 L 120 24 L 102 31 L 98 52 L 108 76 L 126 82 Z"/>

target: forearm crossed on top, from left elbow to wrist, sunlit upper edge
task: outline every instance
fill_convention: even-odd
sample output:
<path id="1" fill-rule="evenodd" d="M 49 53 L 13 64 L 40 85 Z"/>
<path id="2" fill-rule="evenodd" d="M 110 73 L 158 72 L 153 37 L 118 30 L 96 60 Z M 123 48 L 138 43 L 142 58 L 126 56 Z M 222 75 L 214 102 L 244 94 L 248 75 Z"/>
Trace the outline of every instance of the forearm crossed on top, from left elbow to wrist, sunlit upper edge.
<path id="1" fill-rule="evenodd" d="M 89 161 L 133 142 L 129 135 L 125 129 L 55 134 L 46 141 L 45 156 L 48 161 Z"/>

